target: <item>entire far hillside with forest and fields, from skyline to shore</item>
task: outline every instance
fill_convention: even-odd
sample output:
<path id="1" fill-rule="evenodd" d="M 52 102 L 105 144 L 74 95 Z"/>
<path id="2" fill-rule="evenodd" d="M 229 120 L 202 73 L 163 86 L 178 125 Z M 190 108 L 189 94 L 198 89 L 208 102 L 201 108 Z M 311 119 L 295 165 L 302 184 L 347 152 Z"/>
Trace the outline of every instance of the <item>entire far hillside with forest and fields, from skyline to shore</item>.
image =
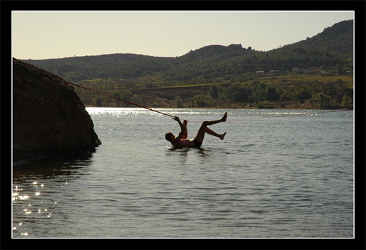
<path id="1" fill-rule="evenodd" d="M 112 54 L 25 61 L 148 107 L 351 108 L 353 20 L 267 52 L 231 44 L 180 57 Z M 127 105 L 75 88 L 85 105 Z"/>

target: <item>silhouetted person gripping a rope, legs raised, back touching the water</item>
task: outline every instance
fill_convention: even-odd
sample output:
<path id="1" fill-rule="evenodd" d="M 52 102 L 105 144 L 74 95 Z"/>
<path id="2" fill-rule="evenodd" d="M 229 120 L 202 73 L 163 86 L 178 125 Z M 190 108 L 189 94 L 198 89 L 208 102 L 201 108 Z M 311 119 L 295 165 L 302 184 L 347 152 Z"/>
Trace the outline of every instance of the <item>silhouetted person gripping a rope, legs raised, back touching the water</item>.
<path id="1" fill-rule="evenodd" d="M 202 125 L 200 126 L 200 129 L 198 130 L 196 137 L 190 140 L 187 139 L 188 136 L 187 121 L 184 120 L 182 124 L 181 120 L 179 120 L 179 117 L 174 116 L 173 120 L 176 120 L 179 123 L 179 126 L 181 126 L 181 133 L 179 133 L 178 137 L 174 137 L 174 135 L 171 132 L 168 132 L 166 133 L 165 138 L 167 141 L 170 141 L 170 143 L 172 143 L 174 148 L 200 148 L 206 133 L 223 140 L 226 135 L 226 132 L 223 133 L 222 135 L 219 135 L 213 132 L 213 130 L 207 128 L 207 126 L 217 124 L 219 122 L 226 122 L 227 116 L 228 115 L 226 112 L 220 120 L 202 122 Z"/>

